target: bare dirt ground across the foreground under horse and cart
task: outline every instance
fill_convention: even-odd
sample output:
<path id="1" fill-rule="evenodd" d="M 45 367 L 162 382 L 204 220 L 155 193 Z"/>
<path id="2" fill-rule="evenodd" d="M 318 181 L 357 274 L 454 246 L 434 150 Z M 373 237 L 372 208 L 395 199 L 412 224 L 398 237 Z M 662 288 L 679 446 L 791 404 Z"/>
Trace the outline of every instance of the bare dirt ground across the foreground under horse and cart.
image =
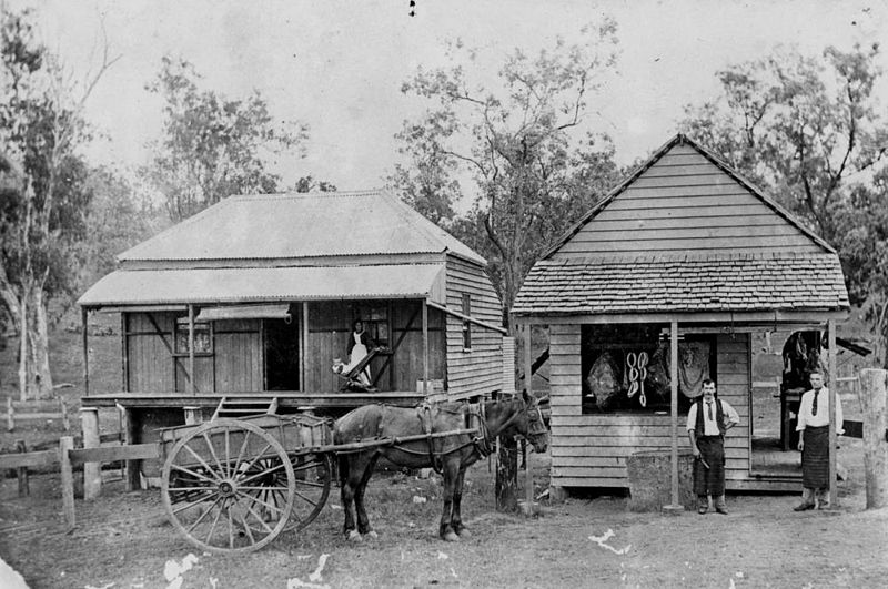
<path id="1" fill-rule="evenodd" d="M 77 501 L 70 534 L 57 475 L 32 477 L 27 498 L 4 478 L 0 556 L 33 588 L 884 587 L 888 509 L 864 510 L 861 456 L 860 440 L 842 440 L 850 476 L 837 509 L 796 514 L 797 496 L 745 495 L 728 496 L 728 516 L 635 514 L 624 497 L 577 495 L 544 502 L 538 518 L 498 514 L 482 463 L 464 497 L 473 535 L 455 544 L 436 536 L 436 477 L 382 473 L 367 499 L 379 539 L 342 538 L 334 488 L 307 529 L 238 557 L 195 550 L 168 524 L 158 490 L 124 492 L 113 471 L 99 500 Z M 532 454 L 531 466 L 544 485 L 547 456 Z M 195 562 L 171 583 L 164 569 L 190 554 Z"/>

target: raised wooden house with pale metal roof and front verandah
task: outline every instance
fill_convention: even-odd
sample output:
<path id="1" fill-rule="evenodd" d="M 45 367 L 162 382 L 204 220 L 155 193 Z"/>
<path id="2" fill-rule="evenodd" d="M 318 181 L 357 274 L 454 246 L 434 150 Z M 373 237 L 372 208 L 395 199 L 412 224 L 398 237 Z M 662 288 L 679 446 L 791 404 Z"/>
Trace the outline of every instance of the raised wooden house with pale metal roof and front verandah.
<path id="1" fill-rule="evenodd" d="M 393 195 L 234 196 L 118 260 L 79 304 L 84 354 L 89 313 L 120 314 L 121 384 L 88 386 L 83 406 L 123 407 L 131 441 L 223 398 L 335 412 L 503 388 L 484 258 Z M 357 318 L 386 352 L 370 367 L 375 390 L 349 393 L 331 366 Z"/>

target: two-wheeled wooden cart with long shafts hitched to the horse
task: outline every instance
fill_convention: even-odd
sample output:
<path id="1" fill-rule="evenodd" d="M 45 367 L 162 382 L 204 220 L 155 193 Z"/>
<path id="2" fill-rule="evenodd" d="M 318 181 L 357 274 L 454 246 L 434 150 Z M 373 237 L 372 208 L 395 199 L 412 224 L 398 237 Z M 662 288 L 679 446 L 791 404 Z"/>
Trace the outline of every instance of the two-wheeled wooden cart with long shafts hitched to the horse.
<path id="1" fill-rule="evenodd" d="M 431 437 L 475 433 L 460 429 Z M 336 446 L 330 420 L 309 414 L 218 418 L 164 428 L 163 506 L 194 546 L 249 552 L 317 517 L 330 495 L 336 453 L 426 437 Z"/>

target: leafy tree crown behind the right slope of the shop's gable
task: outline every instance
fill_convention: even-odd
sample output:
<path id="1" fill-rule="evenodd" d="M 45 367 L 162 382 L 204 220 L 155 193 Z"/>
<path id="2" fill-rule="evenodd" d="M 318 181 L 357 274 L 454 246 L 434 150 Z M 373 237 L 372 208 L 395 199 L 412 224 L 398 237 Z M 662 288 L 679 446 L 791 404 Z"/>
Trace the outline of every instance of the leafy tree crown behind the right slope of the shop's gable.
<path id="1" fill-rule="evenodd" d="M 872 95 L 878 54 L 877 44 L 828 47 L 820 59 L 780 50 L 734 65 L 717 74 L 724 94 L 686 106 L 679 126 L 831 242 L 830 207 L 888 150 Z"/>

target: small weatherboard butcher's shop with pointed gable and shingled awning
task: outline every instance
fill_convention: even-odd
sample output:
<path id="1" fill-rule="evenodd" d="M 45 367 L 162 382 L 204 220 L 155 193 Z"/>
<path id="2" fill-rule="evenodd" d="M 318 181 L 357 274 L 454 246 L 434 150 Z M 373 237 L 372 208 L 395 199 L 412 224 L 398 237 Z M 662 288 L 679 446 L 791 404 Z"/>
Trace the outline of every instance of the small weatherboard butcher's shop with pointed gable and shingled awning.
<path id="1" fill-rule="evenodd" d="M 676 135 L 536 262 L 512 309 L 523 328 L 549 331 L 554 494 L 626 488 L 627 457 L 644 450 L 670 455 L 675 489 L 703 377 L 740 416 L 727 488 L 798 490 L 794 473 L 754 459 L 753 341 L 825 331 L 834 342 L 848 312 L 835 250 Z"/>

